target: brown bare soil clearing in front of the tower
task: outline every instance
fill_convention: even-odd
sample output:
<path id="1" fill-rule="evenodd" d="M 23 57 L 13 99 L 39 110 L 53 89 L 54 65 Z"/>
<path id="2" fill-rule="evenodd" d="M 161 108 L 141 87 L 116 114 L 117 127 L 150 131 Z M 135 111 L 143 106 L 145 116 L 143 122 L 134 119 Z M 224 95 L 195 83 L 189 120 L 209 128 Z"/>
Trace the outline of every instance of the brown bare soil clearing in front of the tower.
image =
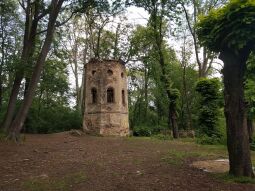
<path id="1" fill-rule="evenodd" d="M 255 191 L 226 183 L 190 164 L 226 150 L 146 138 L 26 135 L 0 142 L 1 191 Z"/>

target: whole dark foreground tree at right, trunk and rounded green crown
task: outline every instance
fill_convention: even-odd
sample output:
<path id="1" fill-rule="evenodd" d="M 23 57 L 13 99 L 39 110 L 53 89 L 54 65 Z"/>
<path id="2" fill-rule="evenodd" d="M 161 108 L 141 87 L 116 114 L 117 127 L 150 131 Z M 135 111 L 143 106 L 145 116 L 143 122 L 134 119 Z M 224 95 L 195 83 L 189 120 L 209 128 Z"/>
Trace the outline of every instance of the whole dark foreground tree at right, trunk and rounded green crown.
<path id="1" fill-rule="evenodd" d="M 224 62 L 224 100 L 230 174 L 253 177 L 247 112 L 244 100 L 244 75 L 255 44 L 255 2 L 231 0 L 212 10 L 197 24 L 200 43 Z"/>

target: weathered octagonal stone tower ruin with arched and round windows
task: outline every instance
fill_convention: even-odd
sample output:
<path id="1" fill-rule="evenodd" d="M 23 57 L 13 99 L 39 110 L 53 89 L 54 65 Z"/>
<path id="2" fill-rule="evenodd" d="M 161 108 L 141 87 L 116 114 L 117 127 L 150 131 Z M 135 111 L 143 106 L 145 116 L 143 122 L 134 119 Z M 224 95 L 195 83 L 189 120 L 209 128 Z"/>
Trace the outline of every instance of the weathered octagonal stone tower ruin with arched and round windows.
<path id="1" fill-rule="evenodd" d="M 85 65 L 83 129 L 96 135 L 129 135 L 127 76 L 119 60 L 92 59 Z"/>

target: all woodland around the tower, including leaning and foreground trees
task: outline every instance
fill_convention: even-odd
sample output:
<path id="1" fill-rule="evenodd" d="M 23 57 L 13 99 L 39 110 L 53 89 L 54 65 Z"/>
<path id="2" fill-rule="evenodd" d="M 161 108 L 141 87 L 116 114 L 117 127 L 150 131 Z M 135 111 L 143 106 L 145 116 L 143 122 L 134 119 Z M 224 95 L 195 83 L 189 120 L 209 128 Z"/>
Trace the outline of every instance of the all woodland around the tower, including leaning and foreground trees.
<path id="1" fill-rule="evenodd" d="M 253 0 L 1 1 L 1 131 L 80 129 L 85 63 L 121 59 L 133 135 L 195 132 L 228 145 L 230 173 L 254 176 L 254 18 Z"/>

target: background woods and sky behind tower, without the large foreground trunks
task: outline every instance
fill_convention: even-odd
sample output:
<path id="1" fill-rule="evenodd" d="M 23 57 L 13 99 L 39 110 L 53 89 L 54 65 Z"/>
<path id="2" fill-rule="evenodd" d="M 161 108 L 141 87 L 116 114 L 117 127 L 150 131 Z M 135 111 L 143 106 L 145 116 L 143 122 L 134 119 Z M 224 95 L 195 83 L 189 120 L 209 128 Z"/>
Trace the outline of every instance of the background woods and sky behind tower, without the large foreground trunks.
<path id="1" fill-rule="evenodd" d="M 80 129 L 85 63 L 91 58 L 121 59 L 127 67 L 129 122 L 133 135 L 177 138 L 185 130 L 194 131 L 199 143 L 226 144 L 223 66 L 216 53 L 198 43 L 195 27 L 200 15 L 222 7 L 226 1 L 148 2 L 63 2 L 22 132 Z M 13 116 L 18 115 L 33 81 L 33 68 L 47 40 L 50 16 L 43 13 L 49 3 L 40 0 L 0 2 L 2 131 L 6 130 L 4 122 L 17 73 L 22 71 Z M 25 29 L 30 26 L 31 35 L 33 18 L 39 18 L 38 15 L 41 17 L 31 36 L 28 64 L 21 65 Z M 31 22 L 27 23 L 29 19 Z M 245 84 L 250 132 L 255 111 L 254 69 L 255 58 L 251 55 Z M 252 133 L 250 141 L 253 141 Z"/>

